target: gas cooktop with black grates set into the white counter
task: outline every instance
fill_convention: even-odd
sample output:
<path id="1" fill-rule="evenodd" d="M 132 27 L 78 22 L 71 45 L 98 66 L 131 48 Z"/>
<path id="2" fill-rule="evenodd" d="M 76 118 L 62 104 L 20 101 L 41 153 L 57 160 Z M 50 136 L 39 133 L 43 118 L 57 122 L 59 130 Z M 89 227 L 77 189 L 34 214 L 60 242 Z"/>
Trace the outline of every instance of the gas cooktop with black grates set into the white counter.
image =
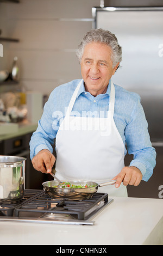
<path id="1" fill-rule="evenodd" d="M 93 225 L 93 217 L 113 202 L 107 193 L 79 201 L 53 199 L 43 190 L 25 190 L 20 202 L 3 202 L 0 221 Z"/>

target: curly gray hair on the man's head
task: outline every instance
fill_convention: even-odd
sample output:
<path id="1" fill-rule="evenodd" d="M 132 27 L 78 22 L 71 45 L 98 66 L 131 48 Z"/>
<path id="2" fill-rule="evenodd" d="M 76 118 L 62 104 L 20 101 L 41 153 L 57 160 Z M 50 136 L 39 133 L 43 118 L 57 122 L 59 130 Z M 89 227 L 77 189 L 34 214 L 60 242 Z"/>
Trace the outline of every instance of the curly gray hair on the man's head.
<path id="1" fill-rule="evenodd" d="M 116 66 L 122 60 L 122 47 L 118 44 L 118 40 L 114 34 L 104 29 L 92 29 L 84 35 L 77 50 L 77 57 L 79 62 L 82 60 L 84 47 L 91 42 L 100 42 L 101 44 L 108 45 L 112 50 L 112 66 Z"/>

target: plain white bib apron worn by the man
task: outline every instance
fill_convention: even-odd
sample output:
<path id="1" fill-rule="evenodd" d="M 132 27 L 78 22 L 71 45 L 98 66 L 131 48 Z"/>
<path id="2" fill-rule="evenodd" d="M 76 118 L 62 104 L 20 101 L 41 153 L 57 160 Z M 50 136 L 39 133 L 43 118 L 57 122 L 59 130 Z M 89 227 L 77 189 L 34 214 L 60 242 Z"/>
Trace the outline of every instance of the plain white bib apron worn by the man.
<path id="1" fill-rule="evenodd" d="M 124 167 L 124 144 L 114 122 L 115 88 L 111 82 L 107 118 L 71 117 L 81 80 L 74 91 L 56 136 L 56 176 L 66 180 L 87 180 L 98 184 L 114 178 Z M 127 197 L 123 184 L 98 187 L 109 196 Z"/>

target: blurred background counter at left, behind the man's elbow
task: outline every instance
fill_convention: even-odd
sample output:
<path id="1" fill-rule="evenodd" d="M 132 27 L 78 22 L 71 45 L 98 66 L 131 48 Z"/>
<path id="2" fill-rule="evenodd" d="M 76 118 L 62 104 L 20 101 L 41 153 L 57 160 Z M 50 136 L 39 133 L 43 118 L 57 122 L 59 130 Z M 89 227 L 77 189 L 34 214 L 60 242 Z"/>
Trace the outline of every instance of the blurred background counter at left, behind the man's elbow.
<path id="1" fill-rule="evenodd" d="M 30 123 L 27 119 L 18 123 L 18 129 L 16 132 L 0 135 L 0 142 L 5 139 L 14 138 L 17 136 L 25 135 L 30 132 L 34 132 L 37 129 L 37 123 Z"/>

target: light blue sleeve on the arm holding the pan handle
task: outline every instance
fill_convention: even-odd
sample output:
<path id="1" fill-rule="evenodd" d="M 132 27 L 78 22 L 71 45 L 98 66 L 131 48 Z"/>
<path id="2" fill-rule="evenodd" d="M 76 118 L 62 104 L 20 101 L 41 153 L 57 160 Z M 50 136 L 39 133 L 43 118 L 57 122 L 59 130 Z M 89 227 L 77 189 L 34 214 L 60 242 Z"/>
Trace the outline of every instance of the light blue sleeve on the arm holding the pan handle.
<path id="1" fill-rule="evenodd" d="M 130 166 L 139 168 L 143 180 L 148 181 L 156 164 L 156 151 L 152 147 L 148 133 L 148 123 L 137 95 L 131 118 L 125 129 L 126 144 L 129 154 L 134 155 Z"/>

